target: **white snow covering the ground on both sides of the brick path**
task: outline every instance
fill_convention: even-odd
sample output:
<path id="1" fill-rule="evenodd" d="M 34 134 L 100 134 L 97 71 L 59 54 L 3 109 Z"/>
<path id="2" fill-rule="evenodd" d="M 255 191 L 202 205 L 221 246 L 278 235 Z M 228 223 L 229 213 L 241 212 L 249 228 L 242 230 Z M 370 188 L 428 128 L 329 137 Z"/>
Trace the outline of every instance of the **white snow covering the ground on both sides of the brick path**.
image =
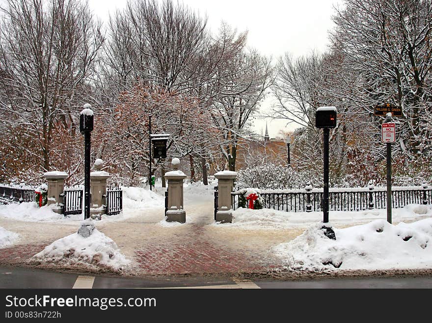
<path id="1" fill-rule="evenodd" d="M 159 184 L 159 185 L 158 185 Z M 202 183 L 184 184 L 184 204 L 186 223 L 167 223 L 164 220 L 164 192 L 160 183 L 150 191 L 148 188 L 123 187 L 123 212 L 119 215 L 103 216 L 95 225 L 106 232 L 113 221 L 124 221 L 123 230 L 135 230 L 139 225 L 155 225 L 152 230 L 160 230 L 161 235 L 177 226 L 187 228 L 190 224 L 206 225 L 206 230 L 217 232 L 241 230 L 260 235 L 274 232 L 302 232 L 297 238 L 280 243 L 273 243 L 270 254 L 278 257 L 287 268 L 306 271 L 334 270 L 374 270 L 374 269 L 431 269 L 432 268 L 432 206 L 408 205 L 392 210 L 392 222 L 386 222 L 386 209 L 364 211 L 330 211 L 329 220 L 335 232 L 336 240 L 327 238 L 321 227 L 322 212 L 285 212 L 273 209 L 251 210 L 239 208 L 233 211 L 233 223 L 214 221 L 214 186 L 212 181 L 205 186 Z M 65 218 L 54 213 L 50 207 L 39 208 L 35 203 L 22 203 L 0 206 L 0 218 L 10 221 L 56 222 L 56 225 L 76 226 L 83 215 Z M 16 222 L 13 222 L 16 223 Z M 330 225 L 327 224 L 327 225 Z M 26 224 L 27 225 L 27 224 Z M 8 226 L 2 224 L 6 229 Z M 21 226 L 22 227 L 22 226 Z M 20 228 L 21 228 L 20 227 Z M 170 229 L 171 228 L 171 229 Z M 10 228 L 9 228 L 10 229 Z M 4 229 L 2 229 L 4 230 Z M 28 225 L 31 230 L 31 225 Z M 12 230 L 19 232 L 21 231 Z M 109 230 L 108 230 L 109 231 Z M 0 230 L 6 243 L 16 241 L 17 235 Z M 69 231 L 71 232 L 71 231 Z M 116 235 L 111 235 L 116 239 Z M 267 234 L 268 233 L 268 234 Z M 69 234 L 69 233 L 67 233 Z M 56 237 L 58 238 L 58 236 Z M 117 236 L 119 238 L 119 236 Z M 259 243 L 255 241 L 254 243 Z M 270 244 L 271 245 L 271 244 Z M 131 255 L 133 250 L 125 241 L 121 243 Z M 131 250 L 129 250 L 131 249 Z M 128 260 L 120 253 L 117 245 L 108 236 L 95 229 L 91 238 L 78 234 L 67 235 L 47 246 L 35 256 L 44 261 L 60 261 L 80 264 L 100 264 L 111 268 L 123 268 Z"/>

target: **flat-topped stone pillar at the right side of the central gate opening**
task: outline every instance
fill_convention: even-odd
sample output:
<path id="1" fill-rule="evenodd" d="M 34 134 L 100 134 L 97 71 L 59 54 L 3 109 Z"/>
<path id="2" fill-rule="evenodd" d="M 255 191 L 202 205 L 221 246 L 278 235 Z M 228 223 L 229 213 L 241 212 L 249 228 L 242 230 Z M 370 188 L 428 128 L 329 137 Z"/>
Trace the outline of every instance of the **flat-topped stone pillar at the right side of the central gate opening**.
<path id="1" fill-rule="evenodd" d="M 233 220 L 233 213 L 231 209 L 231 192 L 234 187 L 234 180 L 237 177 L 236 172 L 222 171 L 215 174 L 217 178 L 218 197 L 216 212 L 216 222 L 231 223 Z"/>

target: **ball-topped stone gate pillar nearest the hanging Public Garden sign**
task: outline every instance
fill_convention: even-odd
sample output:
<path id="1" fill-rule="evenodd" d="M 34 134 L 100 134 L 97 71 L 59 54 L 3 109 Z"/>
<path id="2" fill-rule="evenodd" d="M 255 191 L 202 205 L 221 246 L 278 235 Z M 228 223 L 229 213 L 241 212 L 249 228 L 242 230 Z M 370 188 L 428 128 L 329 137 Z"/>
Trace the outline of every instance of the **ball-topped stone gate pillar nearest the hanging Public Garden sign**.
<path id="1" fill-rule="evenodd" d="M 186 211 L 183 209 L 183 179 L 186 175 L 179 170 L 180 160 L 173 158 L 171 165 L 173 171 L 165 173 L 168 180 L 168 210 L 167 222 L 186 222 Z"/>

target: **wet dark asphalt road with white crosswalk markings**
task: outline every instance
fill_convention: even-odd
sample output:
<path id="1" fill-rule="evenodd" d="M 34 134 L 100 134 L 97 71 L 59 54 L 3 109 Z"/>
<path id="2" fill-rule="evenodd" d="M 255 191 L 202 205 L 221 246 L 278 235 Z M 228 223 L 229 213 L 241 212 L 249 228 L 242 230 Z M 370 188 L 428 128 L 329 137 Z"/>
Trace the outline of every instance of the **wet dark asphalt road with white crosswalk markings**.
<path id="1" fill-rule="evenodd" d="M 432 276 L 238 281 L 235 278 L 217 276 L 187 276 L 159 279 L 85 276 L 22 267 L 0 267 L 0 288 L 430 289 L 432 288 Z"/>

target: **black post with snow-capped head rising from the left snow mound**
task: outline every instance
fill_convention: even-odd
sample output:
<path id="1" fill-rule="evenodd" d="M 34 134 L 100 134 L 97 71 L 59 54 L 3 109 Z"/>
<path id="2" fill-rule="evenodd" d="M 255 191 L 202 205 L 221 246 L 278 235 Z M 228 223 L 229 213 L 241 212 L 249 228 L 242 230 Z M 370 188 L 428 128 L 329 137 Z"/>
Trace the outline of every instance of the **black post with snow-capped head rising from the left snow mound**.
<path id="1" fill-rule="evenodd" d="M 84 220 L 90 217 L 90 142 L 93 131 L 93 111 L 91 105 L 84 104 L 80 113 L 80 132 L 84 135 Z"/>

